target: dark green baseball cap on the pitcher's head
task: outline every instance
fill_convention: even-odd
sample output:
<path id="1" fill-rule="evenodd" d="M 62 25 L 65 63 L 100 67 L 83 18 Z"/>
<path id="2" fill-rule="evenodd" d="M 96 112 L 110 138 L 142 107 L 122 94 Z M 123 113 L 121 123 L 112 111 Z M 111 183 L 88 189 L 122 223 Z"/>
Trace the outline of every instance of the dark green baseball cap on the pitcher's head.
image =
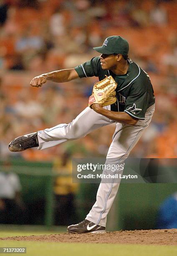
<path id="1" fill-rule="evenodd" d="M 101 54 L 128 55 L 129 43 L 121 36 L 109 36 L 104 40 L 102 46 L 94 47 L 94 50 Z"/>

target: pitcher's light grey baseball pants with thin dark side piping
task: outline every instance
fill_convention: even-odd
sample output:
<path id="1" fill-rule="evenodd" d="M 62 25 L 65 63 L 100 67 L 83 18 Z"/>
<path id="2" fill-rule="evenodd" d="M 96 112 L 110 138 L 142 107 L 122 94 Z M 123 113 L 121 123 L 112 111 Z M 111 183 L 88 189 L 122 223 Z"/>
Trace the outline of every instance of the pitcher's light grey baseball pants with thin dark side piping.
<path id="1" fill-rule="evenodd" d="M 104 108 L 110 110 L 110 106 Z M 116 123 L 116 130 L 106 156 L 106 161 L 114 159 L 116 164 L 119 165 L 124 162 L 148 127 L 153 113 L 154 105 L 147 109 L 145 120 L 138 120 L 136 125 Z M 87 107 L 72 123 L 63 123 L 53 128 L 38 131 L 38 149 L 50 148 L 68 140 L 84 137 L 88 133 L 91 133 L 91 131 L 111 123 L 115 122 Z M 96 195 L 96 202 L 86 216 L 86 220 L 105 227 L 107 214 L 114 201 L 118 188 L 119 183 L 114 183 L 114 179 L 112 179 L 110 183 L 101 182 Z"/>

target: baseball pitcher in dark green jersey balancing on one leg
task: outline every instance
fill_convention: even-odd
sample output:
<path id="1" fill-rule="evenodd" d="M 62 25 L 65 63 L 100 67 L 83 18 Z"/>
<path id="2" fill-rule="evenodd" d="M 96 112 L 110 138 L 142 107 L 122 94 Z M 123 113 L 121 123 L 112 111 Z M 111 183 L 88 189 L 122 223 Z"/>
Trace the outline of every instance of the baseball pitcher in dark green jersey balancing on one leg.
<path id="1" fill-rule="evenodd" d="M 50 148 L 116 123 L 106 161 L 114 159 L 116 164 L 121 164 L 129 156 L 152 120 L 155 102 L 152 84 L 149 75 L 128 58 L 129 44 L 121 36 L 110 36 L 101 47 L 94 49 L 101 55 L 73 69 L 41 74 L 30 82 L 31 86 L 41 87 L 47 80 L 60 83 L 78 77 L 99 77 L 88 107 L 69 124 L 61 123 L 15 138 L 9 144 L 10 151 Z M 96 202 L 86 219 L 68 226 L 67 230 L 71 233 L 105 232 L 106 217 L 118 188 L 119 183 L 115 183 L 114 178 L 109 183 L 101 182 Z"/>

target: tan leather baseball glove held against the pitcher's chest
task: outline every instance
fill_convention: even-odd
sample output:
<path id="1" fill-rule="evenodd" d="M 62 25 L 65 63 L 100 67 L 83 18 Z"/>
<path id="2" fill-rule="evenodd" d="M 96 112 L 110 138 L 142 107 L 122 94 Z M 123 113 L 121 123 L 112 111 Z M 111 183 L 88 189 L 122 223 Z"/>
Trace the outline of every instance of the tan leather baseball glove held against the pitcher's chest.
<path id="1" fill-rule="evenodd" d="M 94 103 L 103 104 L 103 107 L 111 105 L 116 102 L 116 87 L 117 83 L 115 82 L 112 76 L 104 78 L 103 80 L 94 84 L 92 95 L 89 97 L 88 106 L 91 108 L 91 105 Z"/>

